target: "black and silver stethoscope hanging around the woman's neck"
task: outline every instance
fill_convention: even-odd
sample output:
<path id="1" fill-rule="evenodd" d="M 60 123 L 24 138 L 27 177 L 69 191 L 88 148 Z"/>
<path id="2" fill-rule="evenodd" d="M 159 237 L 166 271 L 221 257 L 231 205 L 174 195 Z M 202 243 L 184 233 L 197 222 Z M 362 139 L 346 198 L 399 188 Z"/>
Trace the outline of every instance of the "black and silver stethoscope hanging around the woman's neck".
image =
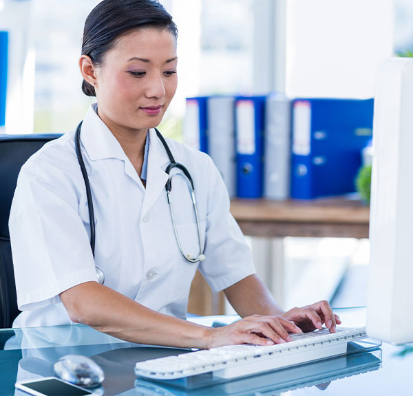
<path id="1" fill-rule="evenodd" d="M 90 189 L 89 177 L 87 177 L 85 162 L 83 161 L 83 155 L 82 155 L 82 152 L 81 152 L 81 126 L 82 126 L 82 122 L 83 121 L 79 122 L 79 124 L 76 128 L 76 133 L 74 135 L 74 139 L 75 139 L 76 155 L 78 157 L 79 165 L 81 166 L 83 180 L 85 180 L 87 208 L 89 210 L 89 223 L 90 223 L 90 247 L 92 248 L 92 254 L 94 256 L 95 239 L 96 239 L 95 223 L 94 223 L 94 208 L 93 208 L 92 190 Z M 173 232 L 175 233 L 176 242 L 178 243 L 179 250 L 180 250 L 182 256 L 184 257 L 184 259 L 189 261 L 189 263 L 198 263 L 200 261 L 204 261 L 205 256 L 204 256 L 204 248 L 203 248 L 203 245 L 202 245 L 200 221 L 198 219 L 198 208 L 196 206 L 195 188 L 193 187 L 193 180 L 192 180 L 191 174 L 189 173 L 188 169 L 185 168 L 185 166 L 183 166 L 179 162 L 175 161 L 175 158 L 173 158 L 171 150 L 169 149 L 169 146 L 168 146 L 167 142 L 165 141 L 164 137 L 160 134 L 160 131 L 158 131 L 158 129 L 155 128 L 155 131 L 156 131 L 156 135 L 158 136 L 159 140 L 162 142 L 163 146 L 165 147 L 165 151 L 167 152 L 167 155 L 169 157 L 170 164 L 167 166 L 167 168 L 165 170 L 165 173 L 167 173 L 169 177 L 168 177 L 167 183 L 165 184 L 165 188 L 167 190 L 167 199 L 168 199 L 168 203 L 169 203 L 169 211 L 171 212 L 171 221 L 172 221 L 172 226 L 173 226 Z M 185 254 L 184 253 L 184 251 L 182 250 L 182 245 L 180 243 L 179 236 L 178 236 L 178 230 L 176 229 L 176 223 L 175 223 L 175 217 L 173 216 L 172 199 L 171 199 L 172 179 L 176 175 L 181 175 L 182 176 L 182 173 L 173 173 L 171 175 L 171 170 L 175 169 L 175 168 L 178 169 L 178 170 L 181 170 L 183 175 L 186 177 L 185 179 L 187 181 L 187 186 L 188 186 L 189 192 L 191 194 L 193 212 L 195 213 L 196 228 L 198 230 L 198 241 L 199 241 L 199 244 L 200 244 L 200 254 L 196 258 L 193 258 L 193 256 L 191 254 Z M 103 283 L 105 282 L 105 275 L 103 274 L 103 271 L 100 270 L 100 268 L 97 265 L 95 267 L 96 267 L 96 276 L 98 278 L 98 282 L 101 285 L 103 285 Z"/>

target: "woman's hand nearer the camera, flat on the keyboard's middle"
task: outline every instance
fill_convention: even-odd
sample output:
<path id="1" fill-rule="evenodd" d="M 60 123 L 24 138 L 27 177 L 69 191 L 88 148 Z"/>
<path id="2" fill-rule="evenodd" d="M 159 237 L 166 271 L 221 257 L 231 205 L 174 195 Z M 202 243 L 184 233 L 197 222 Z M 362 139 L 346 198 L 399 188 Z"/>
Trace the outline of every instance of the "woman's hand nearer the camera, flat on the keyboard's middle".
<path id="1" fill-rule="evenodd" d="M 288 333 L 301 329 L 281 316 L 247 316 L 224 327 L 211 329 L 208 349 L 230 344 L 273 345 L 292 341 Z"/>

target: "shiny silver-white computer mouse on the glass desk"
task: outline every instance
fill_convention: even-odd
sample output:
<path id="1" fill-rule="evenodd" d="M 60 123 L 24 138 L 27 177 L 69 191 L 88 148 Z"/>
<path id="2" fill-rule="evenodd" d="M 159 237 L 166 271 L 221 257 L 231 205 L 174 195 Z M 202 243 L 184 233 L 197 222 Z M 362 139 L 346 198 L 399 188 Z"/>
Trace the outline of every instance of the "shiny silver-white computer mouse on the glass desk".
<path id="1" fill-rule="evenodd" d="M 92 387 L 105 380 L 100 366 L 82 355 L 65 355 L 54 364 L 54 374 L 63 381 L 79 386 Z"/>

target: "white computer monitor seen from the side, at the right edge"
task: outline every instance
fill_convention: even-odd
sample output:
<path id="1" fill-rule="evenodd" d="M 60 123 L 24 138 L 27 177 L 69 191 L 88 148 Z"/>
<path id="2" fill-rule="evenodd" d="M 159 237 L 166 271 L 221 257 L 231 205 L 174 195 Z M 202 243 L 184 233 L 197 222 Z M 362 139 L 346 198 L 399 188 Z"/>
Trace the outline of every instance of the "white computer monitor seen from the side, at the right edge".
<path id="1" fill-rule="evenodd" d="M 380 67 L 374 101 L 367 333 L 413 341 L 413 59 Z"/>

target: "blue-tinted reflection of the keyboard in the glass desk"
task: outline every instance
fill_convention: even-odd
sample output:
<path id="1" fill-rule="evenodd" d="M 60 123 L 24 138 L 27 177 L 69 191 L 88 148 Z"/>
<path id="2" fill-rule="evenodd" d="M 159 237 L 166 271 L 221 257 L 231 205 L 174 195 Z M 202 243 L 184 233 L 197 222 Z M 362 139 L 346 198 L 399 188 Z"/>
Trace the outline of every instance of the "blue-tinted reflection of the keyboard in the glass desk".
<path id="1" fill-rule="evenodd" d="M 286 391 L 316 386 L 324 391 L 330 382 L 375 371 L 381 367 L 381 349 L 377 346 L 367 352 L 330 358 L 309 364 L 301 364 L 282 369 L 242 377 L 239 380 L 222 382 L 213 380 L 211 373 L 198 375 L 184 380 L 154 382 L 138 378 L 135 389 L 123 396 L 276 396 Z M 211 385 L 212 384 L 212 385 Z"/>

